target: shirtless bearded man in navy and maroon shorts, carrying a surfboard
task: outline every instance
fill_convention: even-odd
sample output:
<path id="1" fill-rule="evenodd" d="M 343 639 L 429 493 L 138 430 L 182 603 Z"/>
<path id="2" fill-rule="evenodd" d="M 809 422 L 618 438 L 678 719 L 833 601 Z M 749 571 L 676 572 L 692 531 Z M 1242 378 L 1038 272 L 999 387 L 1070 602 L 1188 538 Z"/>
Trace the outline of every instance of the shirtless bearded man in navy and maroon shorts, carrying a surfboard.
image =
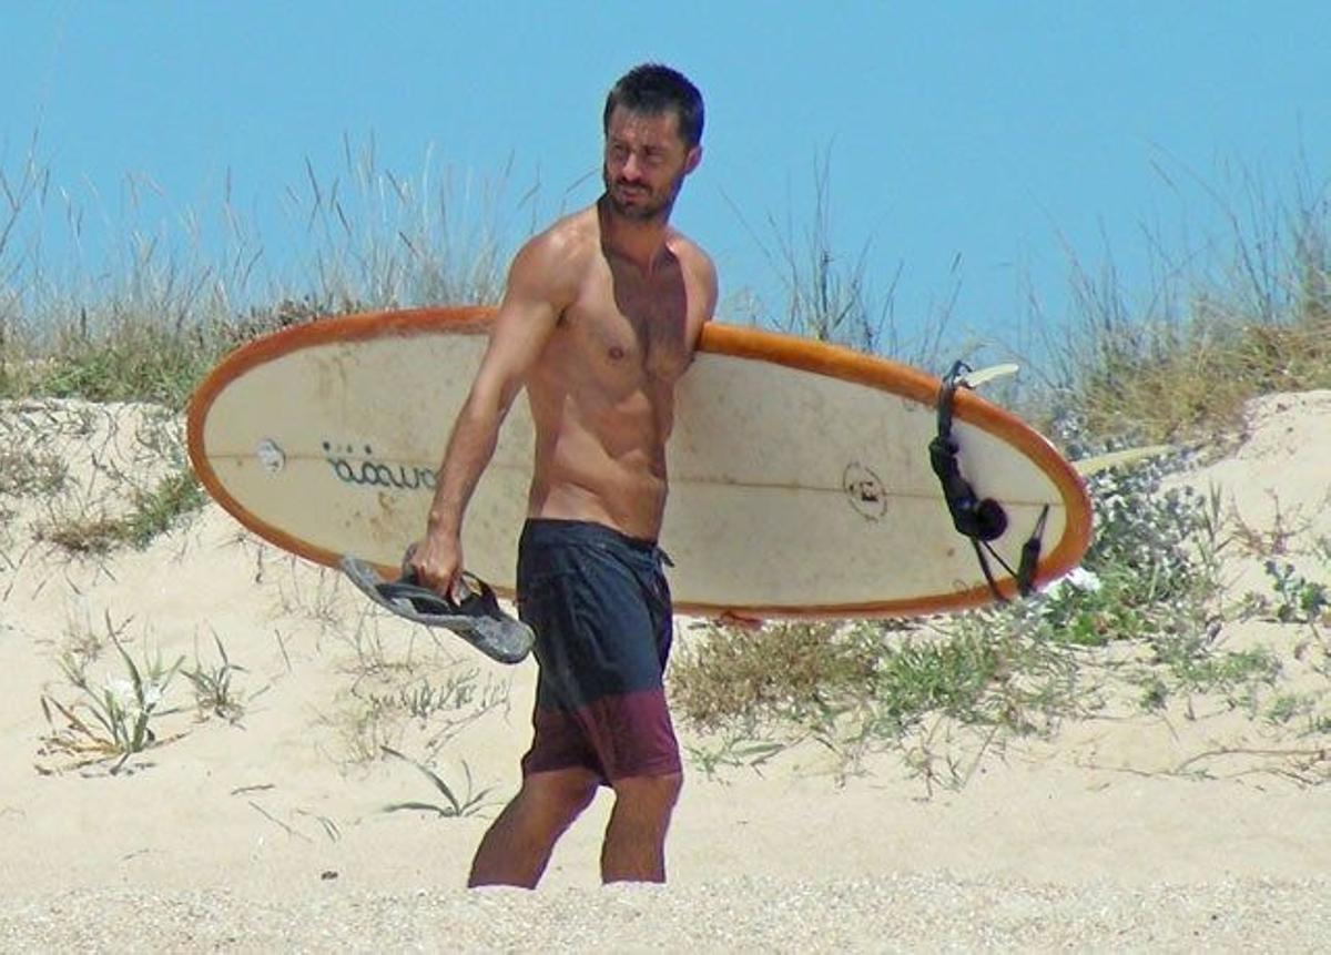
<path id="1" fill-rule="evenodd" d="M 526 387 L 536 440 L 518 607 L 536 633 L 535 734 L 471 886 L 535 886 L 600 785 L 615 791 L 603 881 L 663 882 L 683 779 L 656 537 L 675 383 L 716 306 L 711 259 L 668 223 L 703 157 L 703 101 L 675 70 L 643 65 L 611 89 L 603 122 L 606 192 L 514 259 L 411 561 L 429 587 L 454 587 L 463 512 Z"/>

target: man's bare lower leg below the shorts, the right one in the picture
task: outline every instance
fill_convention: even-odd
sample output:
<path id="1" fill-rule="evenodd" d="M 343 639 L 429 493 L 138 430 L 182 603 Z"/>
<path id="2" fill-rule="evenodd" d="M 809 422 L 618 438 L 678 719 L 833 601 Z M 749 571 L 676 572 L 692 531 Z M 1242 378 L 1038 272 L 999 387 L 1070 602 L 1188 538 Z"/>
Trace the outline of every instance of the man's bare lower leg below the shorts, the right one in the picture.
<path id="1" fill-rule="evenodd" d="M 664 882 L 666 830 L 684 777 L 616 779 L 615 809 L 600 853 L 602 882 Z"/>

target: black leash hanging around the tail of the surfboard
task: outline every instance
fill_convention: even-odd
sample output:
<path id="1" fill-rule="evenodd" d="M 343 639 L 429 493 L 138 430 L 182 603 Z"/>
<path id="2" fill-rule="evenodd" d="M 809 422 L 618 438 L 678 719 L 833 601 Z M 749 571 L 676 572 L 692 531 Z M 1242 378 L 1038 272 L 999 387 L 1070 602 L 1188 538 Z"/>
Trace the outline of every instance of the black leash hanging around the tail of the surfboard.
<path id="1" fill-rule="evenodd" d="M 980 561 L 980 569 L 985 575 L 990 592 L 1000 603 L 1006 604 L 1008 597 L 998 589 L 993 569 L 989 567 L 989 557 L 998 564 L 1017 581 L 1017 591 L 1021 596 L 1029 596 L 1034 589 L 1033 581 L 1036 567 L 1040 564 L 1040 551 L 1045 536 L 1045 521 L 1049 517 L 1049 505 L 1040 512 L 1036 529 L 1021 545 L 1021 560 L 1014 571 L 1002 559 L 989 541 L 998 540 L 1008 529 L 1008 512 L 1002 504 L 993 497 L 981 499 L 976 489 L 961 475 L 961 463 L 957 455 L 961 446 L 952 436 L 953 400 L 958 387 L 969 387 L 965 374 L 972 371 L 965 362 L 953 362 L 952 368 L 942 379 L 938 390 L 938 434 L 929 442 L 929 463 L 942 485 L 942 497 L 948 503 L 948 512 L 952 515 L 952 525 L 970 541 Z M 988 556 L 986 556 L 988 553 Z"/>

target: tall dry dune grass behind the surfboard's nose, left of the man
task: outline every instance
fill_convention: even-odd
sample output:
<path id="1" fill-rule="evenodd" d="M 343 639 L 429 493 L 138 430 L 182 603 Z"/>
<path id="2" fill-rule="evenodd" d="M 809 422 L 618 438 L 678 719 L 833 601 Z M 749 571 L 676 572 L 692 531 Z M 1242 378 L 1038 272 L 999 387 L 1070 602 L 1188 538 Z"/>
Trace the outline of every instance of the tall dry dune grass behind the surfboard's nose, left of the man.
<path id="1" fill-rule="evenodd" d="M 193 215 L 141 223 L 148 190 L 126 176 L 129 207 L 108 239 L 108 263 L 80 257 L 92 243 L 87 222 L 105 211 L 64 190 L 57 200 L 36 146 L 0 169 L 0 399 L 180 411 L 224 354 L 268 331 L 354 311 L 498 301 L 507 253 L 494 210 L 507 170 L 459 198 L 429 158 L 406 177 L 378 164 L 373 138 L 347 138 L 335 169 L 321 176 L 307 161 L 301 173 L 284 205 L 305 243 L 294 265 L 265 267 L 229 185 L 218 201 L 222 238 L 206 245 Z M 47 251 L 56 238 L 71 257 L 59 269 Z"/>

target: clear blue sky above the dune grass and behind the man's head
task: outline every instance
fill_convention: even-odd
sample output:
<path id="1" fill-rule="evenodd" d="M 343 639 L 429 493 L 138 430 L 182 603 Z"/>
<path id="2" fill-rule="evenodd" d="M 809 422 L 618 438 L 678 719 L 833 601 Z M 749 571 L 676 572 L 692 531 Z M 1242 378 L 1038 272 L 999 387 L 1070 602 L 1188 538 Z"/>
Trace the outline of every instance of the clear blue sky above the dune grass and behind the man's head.
<path id="1" fill-rule="evenodd" d="M 906 331 L 953 295 L 954 334 L 1013 342 L 1032 299 L 1057 325 L 1073 257 L 1111 259 L 1145 290 L 1153 242 L 1185 255 L 1251 184 L 1324 190 L 1331 157 L 1324 0 L 57 0 L 0 13 L 0 170 L 12 178 L 36 134 L 52 184 L 110 231 L 125 177 L 154 184 L 138 217 L 168 235 L 229 181 L 272 267 L 302 241 L 278 215 L 284 194 L 305 186 L 306 160 L 335 176 L 345 136 L 373 136 L 403 177 L 427 156 L 462 184 L 511 164 L 512 242 L 592 201 L 606 89 L 643 60 L 707 98 L 704 162 L 675 221 L 712 251 L 723 298 L 776 307 L 753 233 L 771 242 L 769 218 L 805 231 L 825 161 L 833 247 L 848 263 L 866 250 L 880 295 L 897 277 Z"/>

